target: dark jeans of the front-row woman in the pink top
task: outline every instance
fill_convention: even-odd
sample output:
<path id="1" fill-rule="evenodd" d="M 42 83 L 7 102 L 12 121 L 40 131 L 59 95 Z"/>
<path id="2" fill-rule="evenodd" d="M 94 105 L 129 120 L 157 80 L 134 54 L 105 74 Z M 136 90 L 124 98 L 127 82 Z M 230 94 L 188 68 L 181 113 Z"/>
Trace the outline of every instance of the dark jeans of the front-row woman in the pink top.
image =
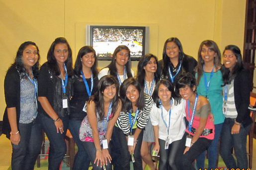
<path id="1" fill-rule="evenodd" d="M 185 136 L 188 133 L 185 132 Z M 189 148 L 189 150 L 183 155 L 181 164 L 182 170 L 195 170 L 192 163 L 194 160 L 203 153 L 210 145 L 212 140 L 206 138 L 198 138 L 197 141 Z"/>

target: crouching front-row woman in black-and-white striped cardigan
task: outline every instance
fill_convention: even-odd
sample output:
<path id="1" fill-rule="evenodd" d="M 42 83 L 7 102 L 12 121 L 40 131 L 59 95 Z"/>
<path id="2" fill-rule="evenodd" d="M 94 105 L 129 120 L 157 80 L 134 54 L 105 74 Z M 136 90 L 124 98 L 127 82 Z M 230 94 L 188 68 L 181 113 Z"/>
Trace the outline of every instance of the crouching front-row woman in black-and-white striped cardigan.
<path id="1" fill-rule="evenodd" d="M 141 144 L 152 109 L 153 99 L 144 94 L 143 88 L 134 78 L 129 78 L 120 87 L 122 111 L 117 120 L 121 144 L 122 170 L 130 170 L 130 156 L 134 170 L 142 170 Z"/>

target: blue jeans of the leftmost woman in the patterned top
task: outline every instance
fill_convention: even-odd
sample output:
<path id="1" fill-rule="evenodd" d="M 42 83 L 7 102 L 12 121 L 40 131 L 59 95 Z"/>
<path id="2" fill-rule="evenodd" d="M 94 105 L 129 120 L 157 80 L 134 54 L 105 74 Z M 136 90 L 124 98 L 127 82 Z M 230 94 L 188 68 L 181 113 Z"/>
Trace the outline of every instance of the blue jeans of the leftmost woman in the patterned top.
<path id="1" fill-rule="evenodd" d="M 28 124 L 19 123 L 19 135 L 19 144 L 12 144 L 11 169 L 34 170 L 42 144 L 40 123 L 36 120 Z"/>

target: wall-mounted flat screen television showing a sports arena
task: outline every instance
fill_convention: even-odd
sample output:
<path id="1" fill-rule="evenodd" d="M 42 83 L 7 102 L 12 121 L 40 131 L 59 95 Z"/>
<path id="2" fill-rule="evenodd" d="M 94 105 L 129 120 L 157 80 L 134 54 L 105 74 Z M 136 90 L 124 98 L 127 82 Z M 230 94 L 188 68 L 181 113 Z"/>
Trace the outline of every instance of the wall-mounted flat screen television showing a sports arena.
<path id="1" fill-rule="evenodd" d="M 115 48 L 126 45 L 131 51 L 131 60 L 140 60 L 148 53 L 148 27 L 87 25 L 86 45 L 96 51 L 98 60 L 111 60 Z"/>

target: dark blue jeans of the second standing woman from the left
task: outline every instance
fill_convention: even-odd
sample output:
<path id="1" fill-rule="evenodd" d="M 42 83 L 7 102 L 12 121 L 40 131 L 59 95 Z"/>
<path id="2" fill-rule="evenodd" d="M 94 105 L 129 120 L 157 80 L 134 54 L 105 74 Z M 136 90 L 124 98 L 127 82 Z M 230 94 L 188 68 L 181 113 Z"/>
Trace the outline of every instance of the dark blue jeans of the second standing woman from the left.
<path id="1" fill-rule="evenodd" d="M 49 139 L 50 150 L 48 158 L 48 170 L 59 170 L 61 161 L 66 154 L 67 146 L 65 135 L 69 126 L 68 116 L 60 117 L 64 125 L 64 133 L 57 133 L 53 119 L 45 114 L 41 114 L 41 124 Z"/>

